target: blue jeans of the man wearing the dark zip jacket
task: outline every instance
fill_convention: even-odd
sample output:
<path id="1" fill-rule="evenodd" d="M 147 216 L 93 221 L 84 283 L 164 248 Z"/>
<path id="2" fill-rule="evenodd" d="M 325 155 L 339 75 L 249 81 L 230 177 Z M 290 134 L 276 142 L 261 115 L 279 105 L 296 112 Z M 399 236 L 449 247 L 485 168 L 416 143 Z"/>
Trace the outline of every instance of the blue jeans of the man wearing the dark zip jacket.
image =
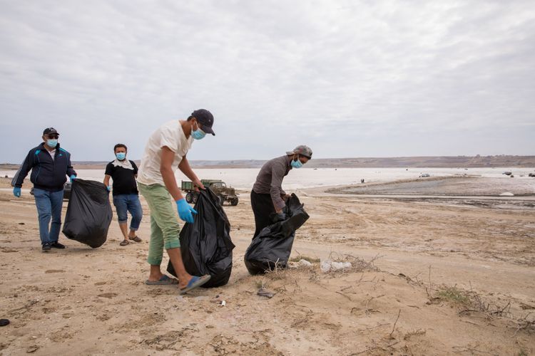
<path id="1" fill-rule="evenodd" d="M 54 244 L 59 239 L 61 229 L 61 206 L 63 205 L 63 189 L 49 192 L 34 188 L 35 205 L 39 215 L 39 236 L 41 245 Z M 52 218 L 52 224 L 50 219 Z M 50 227 L 49 227 L 50 225 Z"/>

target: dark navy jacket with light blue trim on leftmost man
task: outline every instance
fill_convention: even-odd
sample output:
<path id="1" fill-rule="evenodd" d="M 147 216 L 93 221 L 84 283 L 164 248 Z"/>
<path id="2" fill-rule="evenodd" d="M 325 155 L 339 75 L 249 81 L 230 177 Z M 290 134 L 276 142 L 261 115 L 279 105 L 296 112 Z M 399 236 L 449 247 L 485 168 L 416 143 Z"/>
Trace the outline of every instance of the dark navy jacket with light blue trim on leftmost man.
<path id="1" fill-rule="evenodd" d="M 34 183 L 34 188 L 44 189 L 49 192 L 60 191 L 63 189 L 63 184 L 67 182 L 66 176 L 76 175 L 71 164 L 71 154 L 60 148 L 58 144 L 54 159 L 52 159 L 50 153 L 44 147 L 44 142 L 28 152 L 19 172 L 16 174 L 15 187 L 22 187 L 24 178 L 26 178 L 30 169 L 30 180 Z"/>

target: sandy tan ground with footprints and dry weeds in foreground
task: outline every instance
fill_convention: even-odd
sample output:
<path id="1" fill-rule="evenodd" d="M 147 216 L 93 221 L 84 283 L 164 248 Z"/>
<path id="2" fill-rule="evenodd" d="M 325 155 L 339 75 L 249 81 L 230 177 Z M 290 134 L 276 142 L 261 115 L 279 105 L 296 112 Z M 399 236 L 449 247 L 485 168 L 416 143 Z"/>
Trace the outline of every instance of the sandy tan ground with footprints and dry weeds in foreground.
<path id="1" fill-rule="evenodd" d="M 230 283 L 180 297 L 175 286 L 143 284 L 144 201 L 142 243 L 119 246 L 114 216 L 101 248 L 62 236 L 66 250 L 42 253 L 33 197 L 14 198 L 5 179 L 0 187 L 0 318 L 11 320 L 0 355 L 535 353 L 535 209 L 526 204 L 300 191 L 310 219 L 292 257 L 355 268 L 249 276 L 254 223 L 241 192 L 238 206 L 225 206 Z M 275 296 L 256 295 L 262 285 Z"/>

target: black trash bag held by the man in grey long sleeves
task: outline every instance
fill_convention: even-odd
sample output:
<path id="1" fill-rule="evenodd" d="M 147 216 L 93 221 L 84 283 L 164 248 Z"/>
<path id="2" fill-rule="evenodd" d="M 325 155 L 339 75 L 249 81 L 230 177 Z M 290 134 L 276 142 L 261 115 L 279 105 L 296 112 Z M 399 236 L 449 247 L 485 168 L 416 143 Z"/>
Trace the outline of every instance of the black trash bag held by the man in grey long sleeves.
<path id="1" fill-rule="evenodd" d="M 266 226 L 251 242 L 245 252 L 245 267 L 250 274 L 260 274 L 277 268 L 286 268 L 292 252 L 295 231 L 299 229 L 309 216 L 304 204 L 292 194 L 282 209 L 285 220 L 276 221 L 277 214 L 270 216 L 274 224 Z"/>

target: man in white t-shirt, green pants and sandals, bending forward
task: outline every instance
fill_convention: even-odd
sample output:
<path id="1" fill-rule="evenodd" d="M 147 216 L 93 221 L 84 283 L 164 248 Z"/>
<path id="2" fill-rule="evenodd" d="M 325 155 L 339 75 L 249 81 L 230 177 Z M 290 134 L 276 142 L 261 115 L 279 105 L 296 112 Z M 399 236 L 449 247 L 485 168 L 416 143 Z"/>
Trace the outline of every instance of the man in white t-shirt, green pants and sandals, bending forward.
<path id="1" fill-rule="evenodd" d="M 175 167 L 182 171 L 193 184 L 205 189 L 190 167 L 186 154 L 193 140 L 201 140 L 212 130 L 213 115 L 205 109 L 195 110 L 188 120 L 173 120 L 158 127 L 148 138 L 138 172 L 138 189 L 151 210 L 151 242 L 147 261 L 151 272 L 146 284 L 174 284 L 177 281 L 161 272 L 163 248 L 178 276 L 180 294 L 202 286 L 210 276 L 191 276 L 185 271 L 180 254 L 180 225 L 170 198 L 176 203 L 178 215 L 183 221 L 193 223 L 197 211 L 184 199 L 175 179 Z"/>

